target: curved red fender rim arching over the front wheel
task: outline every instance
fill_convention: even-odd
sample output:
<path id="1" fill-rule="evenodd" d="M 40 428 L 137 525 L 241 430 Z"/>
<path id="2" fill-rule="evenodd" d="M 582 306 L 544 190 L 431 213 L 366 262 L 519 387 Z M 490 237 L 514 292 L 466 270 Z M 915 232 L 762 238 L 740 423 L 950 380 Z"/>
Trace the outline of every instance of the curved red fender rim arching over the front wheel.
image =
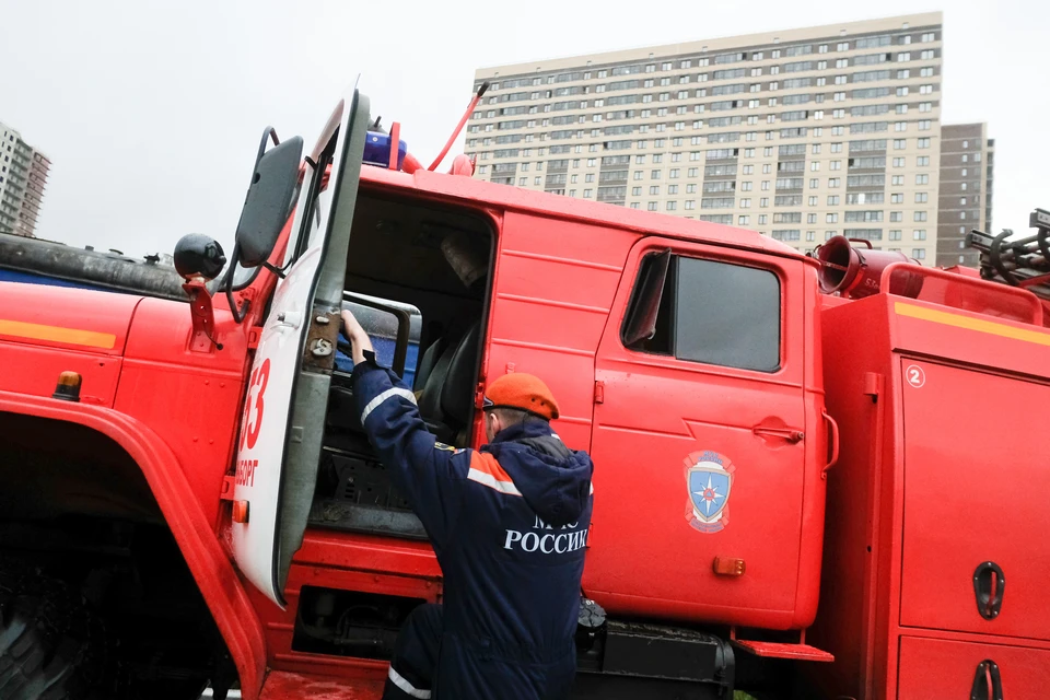
<path id="1" fill-rule="evenodd" d="M 0 411 L 80 423 L 107 435 L 135 459 L 233 656 L 242 697 L 256 700 L 266 673 L 262 625 L 171 447 L 133 418 L 98 406 L 0 392 Z"/>

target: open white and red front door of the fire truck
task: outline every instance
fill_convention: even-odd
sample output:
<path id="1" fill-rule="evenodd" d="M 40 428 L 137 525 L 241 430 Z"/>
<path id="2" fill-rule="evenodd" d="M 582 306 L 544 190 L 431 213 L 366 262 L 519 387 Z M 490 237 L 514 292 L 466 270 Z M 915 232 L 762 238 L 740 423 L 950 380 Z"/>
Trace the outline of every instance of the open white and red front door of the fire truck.
<path id="1" fill-rule="evenodd" d="M 282 607 L 292 555 L 302 546 L 317 480 L 368 125 L 368 97 L 353 90 L 340 101 L 305 159 L 284 277 L 262 326 L 245 397 L 233 553 L 245 578 Z M 257 182 L 258 175 L 253 187 Z M 252 197 L 249 188 L 238 246 Z M 272 245 L 257 265 L 271 250 Z"/>

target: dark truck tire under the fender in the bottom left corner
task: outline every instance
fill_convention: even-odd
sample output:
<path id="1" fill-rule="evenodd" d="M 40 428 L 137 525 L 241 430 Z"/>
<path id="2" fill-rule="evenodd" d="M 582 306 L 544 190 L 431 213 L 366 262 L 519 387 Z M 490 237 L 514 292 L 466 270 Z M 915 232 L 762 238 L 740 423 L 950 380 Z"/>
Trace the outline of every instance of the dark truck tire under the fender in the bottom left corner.
<path id="1" fill-rule="evenodd" d="M 105 630 L 83 597 L 32 567 L 0 561 L 0 700 L 102 700 Z"/>

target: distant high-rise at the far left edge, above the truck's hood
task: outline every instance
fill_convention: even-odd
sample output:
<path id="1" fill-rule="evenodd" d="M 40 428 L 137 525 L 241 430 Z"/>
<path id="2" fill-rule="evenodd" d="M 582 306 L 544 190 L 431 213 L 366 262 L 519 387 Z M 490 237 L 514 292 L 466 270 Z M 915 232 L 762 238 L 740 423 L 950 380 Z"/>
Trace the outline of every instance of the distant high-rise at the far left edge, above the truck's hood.
<path id="1" fill-rule="evenodd" d="M 51 162 L 0 122 L 0 232 L 32 236 Z"/>

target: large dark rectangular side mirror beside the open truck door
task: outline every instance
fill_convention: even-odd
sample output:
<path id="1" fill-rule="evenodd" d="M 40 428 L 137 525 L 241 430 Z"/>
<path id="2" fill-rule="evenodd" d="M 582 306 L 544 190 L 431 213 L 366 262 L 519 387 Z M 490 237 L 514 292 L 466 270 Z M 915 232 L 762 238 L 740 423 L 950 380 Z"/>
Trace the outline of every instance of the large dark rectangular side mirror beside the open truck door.
<path id="1" fill-rule="evenodd" d="M 266 142 L 270 138 L 276 145 L 267 151 Z M 236 261 L 242 267 L 262 265 L 273 252 L 299 185 L 302 155 L 302 137 L 278 143 L 276 132 L 267 127 L 237 222 Z"/>

